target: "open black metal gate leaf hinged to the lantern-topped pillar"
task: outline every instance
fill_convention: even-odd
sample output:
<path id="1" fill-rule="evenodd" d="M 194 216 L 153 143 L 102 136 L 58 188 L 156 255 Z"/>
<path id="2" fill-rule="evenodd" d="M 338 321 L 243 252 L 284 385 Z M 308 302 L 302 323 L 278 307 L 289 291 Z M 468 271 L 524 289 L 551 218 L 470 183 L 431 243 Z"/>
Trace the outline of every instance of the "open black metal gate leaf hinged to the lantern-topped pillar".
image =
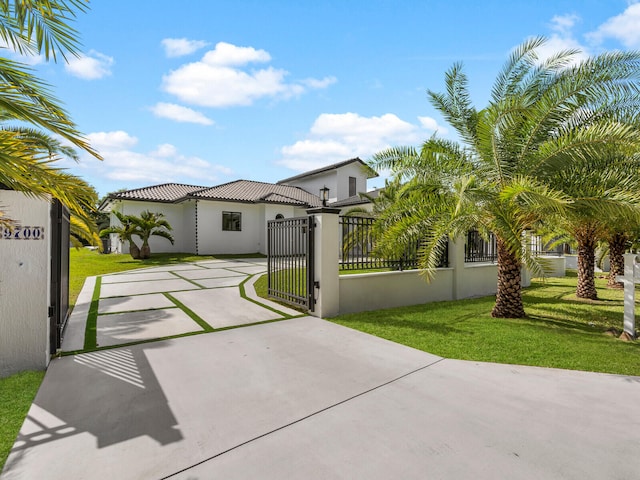
<path id="1" fill-rule="evenodd" d="M 313 216 L 267 223 L 267 291 L 281 302 L 313 312 Z"/>

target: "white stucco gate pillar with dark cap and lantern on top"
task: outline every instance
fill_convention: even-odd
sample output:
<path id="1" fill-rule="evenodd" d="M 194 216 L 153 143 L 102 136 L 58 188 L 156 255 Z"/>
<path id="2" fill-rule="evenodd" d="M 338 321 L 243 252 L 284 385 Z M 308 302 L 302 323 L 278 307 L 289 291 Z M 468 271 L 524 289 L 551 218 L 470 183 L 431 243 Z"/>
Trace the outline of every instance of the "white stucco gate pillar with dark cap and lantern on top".
<path id="1" fill-rule="evenodd" d="M 315 218 L 314 282 L 316 304 L 311 313 L 315 317 L 335 317 L 340 313 L 340 284 L 338 279 L 338 214 L 337 208 L 307 210 Z"/>

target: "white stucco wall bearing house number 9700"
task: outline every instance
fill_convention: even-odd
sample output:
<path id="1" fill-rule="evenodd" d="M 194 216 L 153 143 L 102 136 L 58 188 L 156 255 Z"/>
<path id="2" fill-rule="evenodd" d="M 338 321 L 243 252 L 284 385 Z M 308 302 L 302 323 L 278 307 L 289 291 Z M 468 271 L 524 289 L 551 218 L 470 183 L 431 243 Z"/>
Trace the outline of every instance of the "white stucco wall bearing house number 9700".
<path id="1" fill-rule="evenodd" d="M 42 370 L 49 363 L 51 205 L 4 190 L 0 205 L 18 225 L 44 227 L 38 240 L 0 237 L 0 377 L 4 377 Z"/>

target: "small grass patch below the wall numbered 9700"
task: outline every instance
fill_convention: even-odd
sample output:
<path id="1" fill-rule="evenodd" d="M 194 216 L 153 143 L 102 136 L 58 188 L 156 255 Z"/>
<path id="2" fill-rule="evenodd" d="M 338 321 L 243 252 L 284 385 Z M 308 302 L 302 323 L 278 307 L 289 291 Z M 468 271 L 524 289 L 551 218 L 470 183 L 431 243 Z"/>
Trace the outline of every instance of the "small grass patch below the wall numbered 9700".
<path id="1" fill-rule="evenodd" d="M 43 378 L 44 372 L 0 378 L 0 471 Z"/>

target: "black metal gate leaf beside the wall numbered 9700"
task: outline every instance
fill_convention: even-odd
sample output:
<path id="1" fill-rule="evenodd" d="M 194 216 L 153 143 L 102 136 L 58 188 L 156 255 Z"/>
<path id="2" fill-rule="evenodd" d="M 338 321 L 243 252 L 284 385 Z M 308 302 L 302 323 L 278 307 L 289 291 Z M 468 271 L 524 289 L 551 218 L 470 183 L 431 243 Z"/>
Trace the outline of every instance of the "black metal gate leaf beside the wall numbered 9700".
<path id="1" fill-rule="evenodd" d="M 69 210 L 58 200 L 51 205 L 51 306 L 49 307 L 51 354 L 62 344 L 69 317 Z"/>

